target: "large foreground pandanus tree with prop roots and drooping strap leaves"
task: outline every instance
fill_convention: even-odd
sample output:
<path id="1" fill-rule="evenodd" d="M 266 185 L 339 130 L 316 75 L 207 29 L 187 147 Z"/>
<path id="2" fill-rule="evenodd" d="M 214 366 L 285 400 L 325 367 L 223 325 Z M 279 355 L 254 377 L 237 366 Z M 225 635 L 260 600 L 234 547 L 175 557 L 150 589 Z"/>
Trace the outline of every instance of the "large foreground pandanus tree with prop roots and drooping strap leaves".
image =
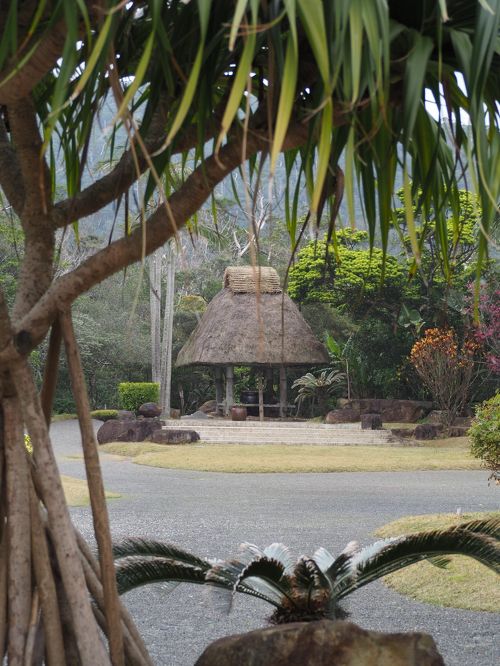
<path id="1" fill-rule="evenodd" d="M 484 259 L 500 188 L 499 21 L 500 0 L 2 3 L 0 186 L 24 234 L 15 298 L 0 295 L 0 645 L 10 663 L 40 654 L 50 664 L 150 663 L 117 596 L 75 300 L 172 238 L 233 170 L 250 185 L 269 173 L 272 185 L 280 153 L 292 243 L 300 188 L 310 221 L 326 218 L 334 240 L 341 199 L 353 217 L 358 184 L 370 243 L 385 252 L 400 171 L 415 269 L 422 219 L 435 225 L 449 271 L 442 211 L 458 226 L 464 179 L 480 197 Z M 89 147 L 110 105 L 103 173 L 90 168 Z M 170 177 L 186 160 L 180 181 Z M 142 210 L 153 195 L 161 205 L 134 228 L 129 192 L 139 181 Z M 56 273 L 61 235 L 112 203 L 123 235 Z M 46 336 L 39 392 L 28 360 Z M 98 561 L 71 523 L 48 434 L 61 340 Z"/>

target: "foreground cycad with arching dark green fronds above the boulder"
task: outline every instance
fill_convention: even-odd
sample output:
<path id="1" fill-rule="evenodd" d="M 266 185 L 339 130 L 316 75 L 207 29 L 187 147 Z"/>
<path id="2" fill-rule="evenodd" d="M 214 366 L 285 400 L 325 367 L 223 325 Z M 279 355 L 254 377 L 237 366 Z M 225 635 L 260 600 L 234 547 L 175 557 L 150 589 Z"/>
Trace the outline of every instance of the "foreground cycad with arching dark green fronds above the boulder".
<path id="1" fill-rule="evenodd" d="M 500 573 L 500 519 L 475 520 L 445 530 L 382 539 L 360 548 L 356 542 L 334 557 L 319 548 L 312 557 L 294 560 L 280 543 L 261 550 L 245 543 L 231 560 L 207 560 L 175 546 L 126 539 L 114 547 L 120 594 L 149 583 L 208 585 L 257 597 L 274 606 L 273 624 L 342 619 L 340 605 L 352 592 L 415 562 L 445 567 L 448 555 L 468 555 Z"/>

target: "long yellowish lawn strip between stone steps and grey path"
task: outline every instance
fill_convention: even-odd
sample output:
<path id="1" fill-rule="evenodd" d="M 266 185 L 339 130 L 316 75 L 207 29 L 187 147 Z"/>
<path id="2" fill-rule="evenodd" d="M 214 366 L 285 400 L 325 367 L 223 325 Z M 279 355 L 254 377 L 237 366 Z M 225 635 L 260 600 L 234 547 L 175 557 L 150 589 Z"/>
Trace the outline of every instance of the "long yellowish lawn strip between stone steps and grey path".
<path id="1" fill-rule="evenodd" d="M 432 442 L 434 444 L 434 442 Z M 279 444 L 185 444 L 112 442 L 108 454 L 139 465 L 205 472 L 382 472 L 480 469 L 462 446 L 308 446 Z"/>

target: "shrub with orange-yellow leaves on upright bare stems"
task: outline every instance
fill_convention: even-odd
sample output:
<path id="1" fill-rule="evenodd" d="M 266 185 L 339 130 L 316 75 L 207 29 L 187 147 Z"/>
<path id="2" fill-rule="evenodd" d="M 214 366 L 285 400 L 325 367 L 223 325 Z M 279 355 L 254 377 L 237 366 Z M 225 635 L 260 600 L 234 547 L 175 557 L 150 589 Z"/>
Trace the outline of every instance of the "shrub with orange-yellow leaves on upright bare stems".
<path id="1" fill-rule="evenodd" d="M 472 339 L 460 348 L 455 331 L 445 328 L 429 328 L 412 347 L 410 362 L 443 411 L 446 425 L 453 423 L 465 406 L 479 349 L 479 343 Z"/>

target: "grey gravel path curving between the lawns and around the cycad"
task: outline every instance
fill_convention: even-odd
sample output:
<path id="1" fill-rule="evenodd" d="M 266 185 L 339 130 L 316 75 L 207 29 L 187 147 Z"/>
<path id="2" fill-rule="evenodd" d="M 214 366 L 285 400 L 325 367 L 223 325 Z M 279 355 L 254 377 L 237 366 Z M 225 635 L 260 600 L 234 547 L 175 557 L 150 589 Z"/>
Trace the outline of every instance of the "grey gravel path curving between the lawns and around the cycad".
<path id="1" fill-rule="evenodd" d="M 83 477 L 75 422 L 52 427 L 61 471 Z M 380 525 L 408 514 L 499 508 L 500 491 L 482 472 L 371 472 L 337 474 L 218 474 L 165 470 L 103 460 L 113 536 L 171 541 L 202 556 L 227 557 L 243 540 L 282 541 L 295 553 L 320 545 L 333 553 L 357 539 L 373 541 Z M 91 535 L 89 509 L 75 508 Z M 126 597 L 158 666 L 191 666 L 204 647 L 224 635 L 262 626 L 269 608 L 236 600 L 221 615 L 208 590 L 194 586 L 165 595 L 160 585 Z M 375 583 L 352 595 L 348 610 L 367 629 L 431 633 L 448 666 L 500 663 L 500 615 L 442 609 L 411 601 Z"/>

